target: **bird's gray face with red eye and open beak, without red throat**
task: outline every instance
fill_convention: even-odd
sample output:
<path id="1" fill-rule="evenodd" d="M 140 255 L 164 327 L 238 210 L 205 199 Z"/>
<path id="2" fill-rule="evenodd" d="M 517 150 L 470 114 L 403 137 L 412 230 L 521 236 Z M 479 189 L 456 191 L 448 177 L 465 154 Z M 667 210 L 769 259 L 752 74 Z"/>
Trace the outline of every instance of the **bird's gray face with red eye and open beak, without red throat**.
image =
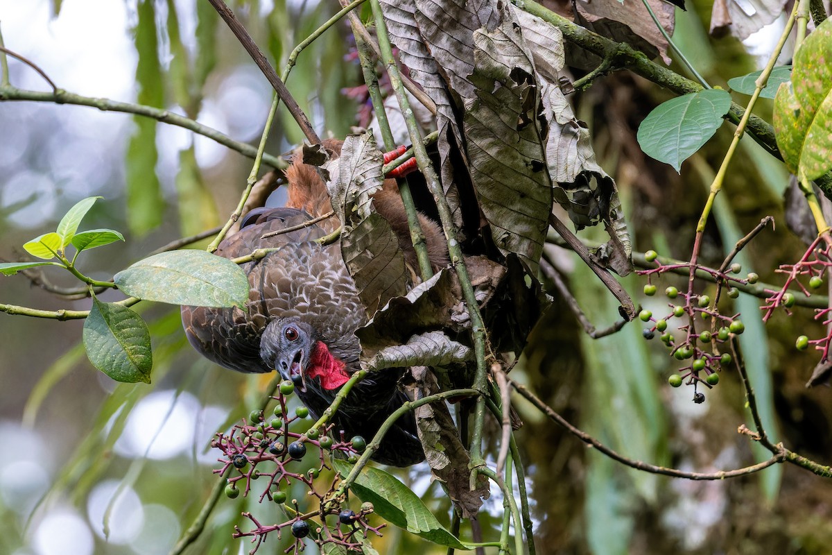
<path id="1" fill-rule="evenodd" d="M 295 319 L 273 320 L 260 338 L 260 358 L 291 379 L 301 391 L 306 390 L 306 367 L 314 346 L 312 327 Z"/>

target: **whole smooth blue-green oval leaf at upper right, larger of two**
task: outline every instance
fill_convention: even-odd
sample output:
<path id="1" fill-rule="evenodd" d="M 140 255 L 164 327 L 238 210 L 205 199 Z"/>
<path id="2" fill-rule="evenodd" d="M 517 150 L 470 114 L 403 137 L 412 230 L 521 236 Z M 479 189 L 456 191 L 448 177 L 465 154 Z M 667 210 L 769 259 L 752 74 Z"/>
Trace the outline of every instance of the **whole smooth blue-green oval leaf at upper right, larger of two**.
<path id="1" fill-rule="evenodd" d="M 679 171 L 722 125 L 730 94 L 720 89 L 691 92 L 661 103 L 638 127 L 638 144 L 647 156 Z"/>

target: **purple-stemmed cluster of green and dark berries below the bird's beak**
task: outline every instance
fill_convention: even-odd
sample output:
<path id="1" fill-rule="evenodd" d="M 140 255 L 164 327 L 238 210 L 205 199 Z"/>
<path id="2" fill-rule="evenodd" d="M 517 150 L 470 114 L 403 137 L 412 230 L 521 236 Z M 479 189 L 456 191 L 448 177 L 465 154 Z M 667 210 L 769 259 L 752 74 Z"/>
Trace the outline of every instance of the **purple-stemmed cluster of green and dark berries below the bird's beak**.
<path id="1" fill-rule="evenodd" d="M 294 389 L 292 382 L 283 382 L 280 384 L 280 394 L 274 398 L 277 404 L 269 417 L 263 411 L 252 411 L 249 419 L 235 425 L 230 434 L 217 434 L 211 442 L 224 455 L 219 459 L 223 463 L 222 467 L 214 472 L 228 476 L 225 485 L 227 497 L 237 498 L 240 493 L 247 496 L 255 489 L 256 482 L 262 485 L 260 503 L 273 501 L 283 506 L 284 513 L 293 515 L 285 522 L 264 525 L 251 513 L 243 513 L 255 528 L 243 532 L 235 527 L 233 536 L 252 537 L 255 548 L 250 553 L 255 553 L 269 533 L 276 532 L 280 538 L 285 528 L 289 528 L 295 542 L 287 549 L 287 553 L 292 549 L 293 553 L 303 551 L 303 538 L 306 537 L 312 538 L 319 546 L 329 543 L 348 552 L 360 553 L 367 533 L 373 532 L 380 536 L 379 530 L 384 528 L 384 524 L 379 527 L 369 525 L 367 517 L 373 513 L 372 503 L 364 503 L 359 513 L 343 508 L 344 499 L 336 499 L 333 503 L 339 483 L 337 476 L 325 482 L 318 478 L 321 473 L 331 473 L 332 470 L 327 464 L 326 451 L 354 463 L 367 444 L 359 436 L 347 441 L 340 434 L 340 439 L 334 439 L 331 425 L 325 426 L 322 431 L 313 426 L 302 434 L 290 431 L 290 425 L 309 416 L 309 409 L 304 406 L 295 409 L 294 416 L 288 414 L 286 397 Z M 313 468 L 298 472 L 296 467 L 305 458 L 308 445 L 319 449 L 319 461 Z M 317 499 L 314 510 L 304 513 L 297 499 L 288 498 L 285 490 L 293 483 L 302 483 L 309 488 L 309 498 Z M 338 515 L 337 523 L 327 523 L 327 517 L 333 514 Z M 313 523 L 312 518 L 319 518 L 319 523 Z"/>

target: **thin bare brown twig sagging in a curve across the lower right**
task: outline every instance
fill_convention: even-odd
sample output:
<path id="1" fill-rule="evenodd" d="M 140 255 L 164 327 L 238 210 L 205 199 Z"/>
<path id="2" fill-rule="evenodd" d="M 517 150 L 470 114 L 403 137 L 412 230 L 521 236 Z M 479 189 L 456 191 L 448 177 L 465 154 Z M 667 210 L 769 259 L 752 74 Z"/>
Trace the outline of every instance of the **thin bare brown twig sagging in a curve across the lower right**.
<path id="1" fill-rule="evenodd" d="M 528 399 L 532 402 L 532 404 L 537 407 L 543 414 L 546 414 L 549 419 L 552 419 L 557 424 L 560 424 L 564 429 L 566 429 L 570 434 L 574 435 L 577 439 L 580 439 L 583 443 L 587 445 L 591 445 L 594 448 L 597 448 L 598 451 L 607 455 L 607 457 L 612 458 L 613 460 L 618 461 L 630 468 L 636 468 L 636 470 L 642 470 L 644 472 L 654 473 L 654 474 L 661 474 L 663 476 L 672 476 L 673 478 L 687 478 L 689 480 L 721 480 L 724 478 L 734 478 L 735 476 L 745 476 L 750 473 L 760 472 L 765 468 L 769 468 L 772 464 L 775 463 L 782 463 L 786 460 L 786 453 L 785 451 L 776 453 L 775 456 L 769 458 L 768 460 L 755 464 L 753 466 L 748 466 L 745 468 L 737 468 L 735 470 L 723 470 L 721 472 L 715 473 L 699 473 L 699 472 L 687 472 L 685 470 L 677 470 L 676 468 L 665 468 L 661 466 L 656 466 L 655 464 L 648 464 L 638 460 L 634 460 L 632 458 L 626 458 L 625 456 L 616 453 L 611 448 L 608 448 L 606 445 L 602 444 L 597 439 L 593 438 L 591 435 L 582 432 L 580 429 L 575 428 L 572 424 L 567 422 L 567 419 L 564 419 L 560 414 L 557 414 L 554 409 L 549 407 L 547 404 L 543 403 L 542 400 L 538 399 L 535 394 L 532 394 L 531 391 L 526 389 L 523 385 L 518 384 L 517 382 L 513 381 L 512 379 L 508 380 L 512 387 L 523 397 Z"/>

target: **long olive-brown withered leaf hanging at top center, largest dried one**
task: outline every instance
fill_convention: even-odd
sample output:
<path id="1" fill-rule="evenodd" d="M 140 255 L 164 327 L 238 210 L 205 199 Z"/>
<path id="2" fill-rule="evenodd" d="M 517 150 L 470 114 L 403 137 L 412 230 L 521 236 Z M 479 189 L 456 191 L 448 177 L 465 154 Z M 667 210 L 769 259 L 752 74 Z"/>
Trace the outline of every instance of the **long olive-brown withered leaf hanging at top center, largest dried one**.
<path id="1" fill-rule="evenodd" d="M 491 235 L 506 255 L 532 270 L 542 254 L 552 211 L 552 182 L 543 142 L 547 124 L 532 57 L 508 4 L 492 32 L 473 33 L 475 90 L 463 116 L 471 178 Z"/>

